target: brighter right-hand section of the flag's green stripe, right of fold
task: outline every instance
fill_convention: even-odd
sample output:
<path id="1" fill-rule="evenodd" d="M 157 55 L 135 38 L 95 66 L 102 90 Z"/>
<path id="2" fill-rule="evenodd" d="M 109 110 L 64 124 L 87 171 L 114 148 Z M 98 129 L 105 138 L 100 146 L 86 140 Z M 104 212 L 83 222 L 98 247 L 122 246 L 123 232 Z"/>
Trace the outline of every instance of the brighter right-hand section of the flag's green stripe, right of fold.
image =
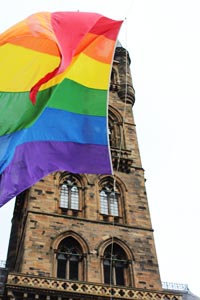
<path id="1" fill-rule="evenodd" d="M 48 107 L 70 112 L 106 116 L 107 91 L 91 89 L 69 79 L 64 79 L 54 89 Z"/>

